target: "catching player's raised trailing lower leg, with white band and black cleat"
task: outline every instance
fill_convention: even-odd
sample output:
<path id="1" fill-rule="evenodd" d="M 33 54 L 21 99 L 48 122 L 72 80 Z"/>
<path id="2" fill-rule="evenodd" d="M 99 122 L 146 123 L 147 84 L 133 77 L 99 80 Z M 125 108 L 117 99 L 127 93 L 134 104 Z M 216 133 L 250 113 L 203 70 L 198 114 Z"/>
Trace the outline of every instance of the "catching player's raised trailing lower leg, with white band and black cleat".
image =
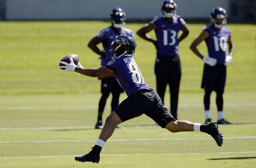
<path id="1" fill-rule="evenodd" d="M 216 122 L 210 122 L 207 125 L 202 125 L 198 123 L 192 123 L 189 121 L 171 121 L 165 128 L 171 132 L 181 132 L 181 131 L 201 131 L 211 135 L 216 141 L 218 146 L 222 146 L 223 138 L 218 129 Z"/>

